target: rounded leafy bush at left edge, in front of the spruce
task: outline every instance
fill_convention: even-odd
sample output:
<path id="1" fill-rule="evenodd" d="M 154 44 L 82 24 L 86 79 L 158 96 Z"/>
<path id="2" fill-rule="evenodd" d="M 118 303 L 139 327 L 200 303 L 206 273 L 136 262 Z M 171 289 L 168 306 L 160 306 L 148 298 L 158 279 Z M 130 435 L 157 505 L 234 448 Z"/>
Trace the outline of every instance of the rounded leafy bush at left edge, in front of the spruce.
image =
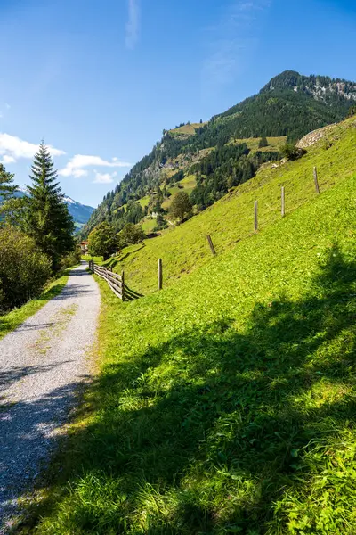
<path id="1" fill-rule="evenodd" d="M 0 311 L 35 297 L 51 276 L 51 260 L 33 238 L 11 226 L 0 228 Z"/>

